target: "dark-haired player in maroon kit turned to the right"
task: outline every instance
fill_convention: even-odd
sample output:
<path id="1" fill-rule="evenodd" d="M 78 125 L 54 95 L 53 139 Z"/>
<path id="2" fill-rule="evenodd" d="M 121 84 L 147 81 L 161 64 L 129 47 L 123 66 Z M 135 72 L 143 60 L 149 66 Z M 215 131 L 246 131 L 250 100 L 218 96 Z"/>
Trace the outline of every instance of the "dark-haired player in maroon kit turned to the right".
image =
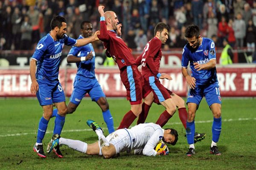
<path id="1" fill-rule="evenodd" d="M 173 116 L 176 111 L 176 107 L 179 111 L 179 117 L 186 129 L 187 111 L 184 105 L 184 100 L 166 89 L 159 81 L 159 79 L 172 79 L 167 74 L 161 74 L 159 72 L 160 60 L 162 58 L 162 44 L 166 43 L 168 39 L 169 27 L 165 23 L 157 23 L 154 28 L 154 38 L 152 38 L 145 46 L 143 53 L 136 59 L 137 65 L 142 65 L 142 85 L 143 85 L 143 105 L 142 113 L 140 113 L 137 125 L 144 123 L 148 111 L 153 102 L 158 105 L 163 105 L 166 110 L 160 115 L 156 124 L 163 127 L 168 120 Z M 204 133 L 195 134 L 195 142 L 204 139 Z"/>

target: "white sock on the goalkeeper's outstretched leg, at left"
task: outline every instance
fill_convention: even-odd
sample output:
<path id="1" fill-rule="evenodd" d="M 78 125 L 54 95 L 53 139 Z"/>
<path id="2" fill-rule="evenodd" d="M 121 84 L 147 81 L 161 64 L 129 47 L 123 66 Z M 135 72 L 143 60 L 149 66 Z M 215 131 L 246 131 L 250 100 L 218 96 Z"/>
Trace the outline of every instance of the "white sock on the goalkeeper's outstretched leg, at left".
<path id="1" fill-rule="evenodd" d="M 79 141 L 79 140 L 72 140 L 72 139 L 65 139 L 60 138 L 59 144 L 67 145 L 68 147 L 77 150 L 82 153 L 86 153 L 87 151 L 87 143 Z"/>

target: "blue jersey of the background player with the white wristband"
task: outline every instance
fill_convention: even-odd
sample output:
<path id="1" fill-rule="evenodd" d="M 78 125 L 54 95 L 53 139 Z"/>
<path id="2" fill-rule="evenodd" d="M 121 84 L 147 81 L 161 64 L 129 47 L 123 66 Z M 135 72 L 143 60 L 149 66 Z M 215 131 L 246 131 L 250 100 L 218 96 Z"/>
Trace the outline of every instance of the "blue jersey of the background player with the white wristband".
<path id="1" fill-rule="evenodd" d="M 79 36 L 78 39 L 84 38 L 81 35 Z M 88 77 L 88 78 L 95 78 L 95 52 L 93 49 L 93 45 L 91 43 L 81 46 L 81 47 L 75 47 L 73 46 L 68 54 L 73 55 L 76 57 L 86 57 L 90 51 L 93 53 L 93 58 L 89 59 L 87 61 L 82 61 L 82 62 L 76 62 L 77 66 L 77 75 L 78 76 L 83 76 L 83 77 Z"/>

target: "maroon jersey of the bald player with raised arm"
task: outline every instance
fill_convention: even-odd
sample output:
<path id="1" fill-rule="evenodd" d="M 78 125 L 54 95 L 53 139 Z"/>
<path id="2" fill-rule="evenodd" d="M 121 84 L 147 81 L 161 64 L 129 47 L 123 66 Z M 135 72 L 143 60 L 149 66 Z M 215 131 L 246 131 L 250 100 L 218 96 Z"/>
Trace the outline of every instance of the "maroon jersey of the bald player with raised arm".
<path id="1" fill-rule="evenodd" d="M 116 32 L 107 30 L 104 20 L 100 21 L 100 35 L 98 37 L 99 40 L 103 41 L 104 47 L 116 61 L 119 69 L 135 64 L 135 59 L 125 42 Z"/>

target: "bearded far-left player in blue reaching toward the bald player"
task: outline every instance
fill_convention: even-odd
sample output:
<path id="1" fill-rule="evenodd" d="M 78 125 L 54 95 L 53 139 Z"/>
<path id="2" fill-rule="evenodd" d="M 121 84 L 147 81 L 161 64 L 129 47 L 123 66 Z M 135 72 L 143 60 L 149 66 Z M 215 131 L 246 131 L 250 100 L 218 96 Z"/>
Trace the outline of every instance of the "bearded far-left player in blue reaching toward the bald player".
<path id="1" fill-rule="evenodd" d="M 79 40 L 68 37 L 66 33 L 67 22 L 64 17 L 53 17 L 51 21 L 51 31 L 38 42 L 30 61 L 30 76 L 32 81 L 30 91 L 32 94 L 36 94 L 39 104 L 44 110 L 43 116 L 39 122 L 37 141 L 33 150 L 42 158 L 46 157 L 42 140 L 44 139 L 49 119 L 52 116 L 52 104 L 58 109 L 53 134 L 61 133 L 67 113 L 64 91 L 58 80 L 62 49 L 64 45 L 83 46 L 95 40 L 99 40 L 97 37 L 99 31 L 96 31 L 92 37 Z M 62 157 L 59 149 L 55 149 L 55 153 L 59 157 Z"/>

